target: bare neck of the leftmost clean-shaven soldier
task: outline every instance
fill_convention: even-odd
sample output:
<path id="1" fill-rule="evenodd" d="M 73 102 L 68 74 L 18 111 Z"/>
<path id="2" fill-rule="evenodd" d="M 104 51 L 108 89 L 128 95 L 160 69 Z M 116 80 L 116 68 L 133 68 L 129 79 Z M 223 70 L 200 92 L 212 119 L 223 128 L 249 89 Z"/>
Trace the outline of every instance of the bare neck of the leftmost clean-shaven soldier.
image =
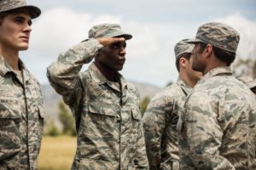
<path id="1" fill-rule="evenodd" d="M 9 50 L 0 45 L 0 55 L 15 70 L 19 71 L 19 51 Z"/>

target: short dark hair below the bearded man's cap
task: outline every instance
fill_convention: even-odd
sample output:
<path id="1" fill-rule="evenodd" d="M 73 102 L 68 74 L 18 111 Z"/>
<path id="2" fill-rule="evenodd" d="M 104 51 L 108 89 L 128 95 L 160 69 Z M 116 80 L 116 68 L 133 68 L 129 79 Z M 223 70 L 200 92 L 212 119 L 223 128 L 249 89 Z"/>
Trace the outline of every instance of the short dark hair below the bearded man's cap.
<path id="1" fill-rule="evenodd" d="M 199 45 L 200 53 L 202 53 L 202 51 L 207 48 L 207 43 L 199 42 Z M 224 61 L 228 66 L 230 66 L 231 63 L 236 59 L 236 53 L 232 53 L 215 46 L 212 46 L 212 51 L 219 60 Z"/>

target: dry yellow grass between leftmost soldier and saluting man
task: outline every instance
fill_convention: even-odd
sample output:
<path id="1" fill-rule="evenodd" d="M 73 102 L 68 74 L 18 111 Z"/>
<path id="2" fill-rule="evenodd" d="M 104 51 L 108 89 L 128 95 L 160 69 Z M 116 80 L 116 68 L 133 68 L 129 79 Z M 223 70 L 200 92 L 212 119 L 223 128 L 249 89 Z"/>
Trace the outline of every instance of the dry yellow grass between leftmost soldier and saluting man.
<path id="1" fill-rule="evenodd" d="M 70 169 L 76 150 L 76 138 L 70 136 L 43 136 L 38 170 Z"/>

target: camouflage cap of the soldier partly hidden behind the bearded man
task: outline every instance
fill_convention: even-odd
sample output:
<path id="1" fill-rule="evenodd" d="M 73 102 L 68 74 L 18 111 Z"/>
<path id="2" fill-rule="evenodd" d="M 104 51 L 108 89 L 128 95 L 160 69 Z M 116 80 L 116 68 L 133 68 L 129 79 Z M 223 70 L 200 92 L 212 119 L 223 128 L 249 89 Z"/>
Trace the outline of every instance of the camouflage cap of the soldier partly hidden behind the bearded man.
<path id="1" fill-rule="evenodd" d="M 175 45 L 174 53 L 175 53 L 176 59 L 178 59 L 181 54 L 192 53 L 195 45 L 187 41 L 189 41 L 189 39 L 183 39 L 177 42 L 177 44 Z"/>

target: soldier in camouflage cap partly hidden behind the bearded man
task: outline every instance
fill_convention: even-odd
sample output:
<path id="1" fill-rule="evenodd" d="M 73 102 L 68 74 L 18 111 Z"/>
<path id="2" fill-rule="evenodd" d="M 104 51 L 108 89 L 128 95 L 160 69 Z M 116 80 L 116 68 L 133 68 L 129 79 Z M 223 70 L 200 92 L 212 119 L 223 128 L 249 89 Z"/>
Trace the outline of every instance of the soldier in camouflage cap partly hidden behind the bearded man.
<path id="1" fill-rule="evenodd" d="M 144 135 L 149 167 L 155 169 L 179 169 L 177 144 L 177 120 L 183 111 L 187 94 L 200 79 L 201 72 L 191 68 L 194 44 L 177 42 L 174 47 L 178 71 L 177 83 L 166 87 L 151 99 L 143 116 Z"/>

